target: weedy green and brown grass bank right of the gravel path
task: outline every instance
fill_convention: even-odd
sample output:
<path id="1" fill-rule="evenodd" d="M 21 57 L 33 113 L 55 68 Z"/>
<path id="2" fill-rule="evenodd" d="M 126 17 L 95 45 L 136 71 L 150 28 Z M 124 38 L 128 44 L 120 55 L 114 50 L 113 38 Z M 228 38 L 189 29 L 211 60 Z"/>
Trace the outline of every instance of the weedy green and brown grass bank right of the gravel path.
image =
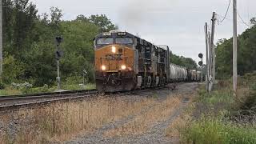
<path id="1" fill-rule="evenodd" d="M 255 80 L 256 74 L 239 78 L 237 97 L 230 81 L 219 82 L 210 94 L 202 87 L 187 113 L 166 134 L 174 136 L 176 130 L 182 143 L 256 143 Z"/>

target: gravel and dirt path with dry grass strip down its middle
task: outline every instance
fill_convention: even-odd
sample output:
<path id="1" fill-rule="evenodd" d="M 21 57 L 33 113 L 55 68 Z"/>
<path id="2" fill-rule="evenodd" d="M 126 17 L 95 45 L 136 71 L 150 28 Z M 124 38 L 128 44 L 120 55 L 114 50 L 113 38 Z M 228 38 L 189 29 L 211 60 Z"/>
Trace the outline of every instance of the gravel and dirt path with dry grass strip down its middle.
<path id="1" fill-rule="evenodd" d="M 187 106 L 186 101 L 198 84 L 181 83 L 177 85 L 177 90 L 170 90 L 170 87 L 134 94 L 156 97 L 156 102 L 143 107 L 138 114 L 106 124 L 92 134 L 64 143 L 178 143 L 178 139 L 166 137 L 166 129 L 182 114 Z"/>

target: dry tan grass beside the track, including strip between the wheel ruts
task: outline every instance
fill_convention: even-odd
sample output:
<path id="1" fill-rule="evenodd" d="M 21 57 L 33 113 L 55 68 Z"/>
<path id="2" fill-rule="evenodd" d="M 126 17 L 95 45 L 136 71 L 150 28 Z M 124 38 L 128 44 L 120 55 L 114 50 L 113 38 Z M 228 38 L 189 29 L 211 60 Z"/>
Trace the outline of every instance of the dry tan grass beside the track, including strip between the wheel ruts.
<path id="1" fill-rule="evenodd" d="M 144 134 L 156 122 L 166 120 L 182 102 L 181 94 L 166 95 L 164 101 L 156 93 L 148 96 L 90 98 L 0 113 L 0 143 L 62 142 L 116 121 L 125 123 L 106 130 L 103 136 Z"/>

